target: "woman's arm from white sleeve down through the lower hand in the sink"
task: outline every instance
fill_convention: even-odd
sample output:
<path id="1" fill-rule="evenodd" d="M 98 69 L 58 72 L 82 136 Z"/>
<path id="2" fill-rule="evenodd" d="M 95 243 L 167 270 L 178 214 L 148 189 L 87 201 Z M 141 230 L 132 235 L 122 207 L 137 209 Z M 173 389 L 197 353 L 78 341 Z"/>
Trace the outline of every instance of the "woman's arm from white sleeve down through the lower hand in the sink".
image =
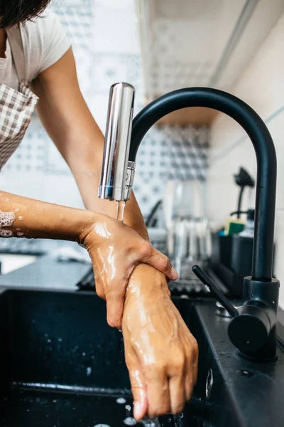
<path id="1" fill-rule="evenodd" d="M 33 90 L 40 97 L 38 113 L 43 125 L 69 164 L 85 206 L 115 217 L 115 203 L 97 197 L 104 138 L 80 93 L 71 50 L 40 74 Z M 126 203 L 124 222 L 148 238 L 133 194 Z M 147 412 L 154 416 L 169 410 L 176 413 L 189 399 L 195 384 L 197 344 L 170 301 L 163 273 L 140 264 L 133 270 L 129 283 L 123 330 L 136 401 L 135 416 L 140 419 Z M 159 315 L 154 323 L 152 315 L 157 309 Z M 143 312 L 150 314 L 142 334 Z M 163 322 L 168 322 L 167 328 Z"/>

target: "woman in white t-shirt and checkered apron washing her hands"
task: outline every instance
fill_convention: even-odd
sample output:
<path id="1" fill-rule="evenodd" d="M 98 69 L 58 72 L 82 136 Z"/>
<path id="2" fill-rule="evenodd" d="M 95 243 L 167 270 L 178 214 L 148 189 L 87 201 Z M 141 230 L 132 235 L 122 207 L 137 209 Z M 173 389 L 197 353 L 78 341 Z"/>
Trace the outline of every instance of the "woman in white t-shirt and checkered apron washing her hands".
<path id="1" fill-rule="evenodd" d="M 31 115 L 40 120 L 74 174 L 87 210 L 0 192 L 0 235 L 60 238 L 83 244 L 92 259 L 107 320 L 122 327 L 137 419 L 178 413 L 197 377 L 197 344 L 167 281 L 177 273 L 148 242 L 132 195 L 124 223 L 97 199 L 103 136 L 80 93 L 72 49 L 49 0 L 0 0 L 0 169 Z M 122 326 L 121 326 L 122 325 Z"/>

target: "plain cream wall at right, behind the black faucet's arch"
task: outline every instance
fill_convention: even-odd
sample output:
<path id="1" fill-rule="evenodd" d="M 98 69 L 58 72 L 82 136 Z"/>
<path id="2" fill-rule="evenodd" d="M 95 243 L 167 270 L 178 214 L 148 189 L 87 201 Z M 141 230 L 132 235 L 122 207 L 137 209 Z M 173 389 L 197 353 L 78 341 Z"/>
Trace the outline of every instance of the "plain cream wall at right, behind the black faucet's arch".
<path id="1" fill-rule="evenodd" d="M 275 228 L 275 274 L 284 283 L 284 16 L 239 78 L 234 95 L 248 102 L 266 121 L 278 156 L 278 190 Z M 229 212 L 236 208 L 237 189 L 232 174 L 244 166 L 256 176 L 253 146 L 239 125 L 225 115 L 219 115 L 212 126 L 209 156 L 208 200 L 209 216 L 221 225 Z M 254 206 L 254 191 L 245 197 L 246 207 Z M 284 307 L 284 288 L 280 292 Z"/>

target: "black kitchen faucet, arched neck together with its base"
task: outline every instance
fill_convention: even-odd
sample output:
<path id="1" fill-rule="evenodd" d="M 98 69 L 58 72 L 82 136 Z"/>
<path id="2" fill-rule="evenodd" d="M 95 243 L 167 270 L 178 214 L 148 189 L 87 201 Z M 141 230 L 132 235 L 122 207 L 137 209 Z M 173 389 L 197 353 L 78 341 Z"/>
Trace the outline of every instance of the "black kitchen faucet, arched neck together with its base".
<path id="1" fill-rule="evenodd" d="M 238 97 L 211 88 L 184 88 L 154 100 L 146 105 L 132 122 L 130 147 L 127 148 L 129 169 L 126 164 L 124 175 L 127 191 L 122 191 L 128 196 L 125 196 L 124 200 L 129 199 L 129 185 L 133 184 L 136 154 L 146 132 L 163 116 L 185 107 L 208 107 L 224 112 L 244 128 L 255 149 L 257 179 L 252 270 L 251 276 L 244 278 L 244 304 L 237 311 L 231 310 L 234 317 L 228 333 L 231 342 L 244 357 L 274 360 L 279 295 L 279 281 L 272 278 L 277 165 L 273 140 L 261 117 Z M 128 128 L 130 132 L 129 124 Z M 114 151 L 118 152 L 119 147 Z M 104 163 L 106 155 L 105 151 Z M 109 176 L 111 182 L 114 182 L 114 162 L 108 160 L 108 163 L 112 167 Z M 104 171 L 102 181 L 103 174 Z M 102 193 L 103 191 L 100 191 L 101 197 L 113 198 L 109 194 L 109 187 L 108 193 L 105 191 L 104 196 Z"/>

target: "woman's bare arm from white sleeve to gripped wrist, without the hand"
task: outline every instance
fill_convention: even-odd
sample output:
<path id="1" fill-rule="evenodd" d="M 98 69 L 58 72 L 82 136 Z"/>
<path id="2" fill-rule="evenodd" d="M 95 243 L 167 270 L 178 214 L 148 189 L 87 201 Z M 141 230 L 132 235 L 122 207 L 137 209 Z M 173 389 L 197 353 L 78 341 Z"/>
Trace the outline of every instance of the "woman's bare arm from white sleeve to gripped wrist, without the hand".
<path id="1" fill-rule="evenodd" d="M 82 97 L 75 60 L 70 49 L 33 82 L 40 97 L 38 115 L 75 176 L 84 205 L 116 217 L 116 203 L 97 196 L 102 169 L 104 137 Z M 143 216 L 132 194 L 126 203 L 124 223 L 148 238 Z"/>

